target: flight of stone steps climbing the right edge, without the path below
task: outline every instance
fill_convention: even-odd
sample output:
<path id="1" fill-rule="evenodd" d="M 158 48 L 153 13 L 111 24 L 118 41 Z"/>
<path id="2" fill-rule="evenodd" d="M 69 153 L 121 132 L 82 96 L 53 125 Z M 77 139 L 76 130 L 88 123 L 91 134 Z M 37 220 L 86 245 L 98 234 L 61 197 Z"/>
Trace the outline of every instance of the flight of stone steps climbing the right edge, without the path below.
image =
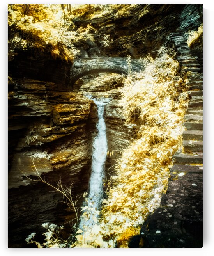
<path id="1" fill-rule="evenodd" d="M 193 56 L 179 33 L 173 33 L 171 40 L 175 49 L 180 53 L 177 59 L 181 66 L 181 76 L 186 75 L 186 88 L 189 103 L 184 116 L 183 150 L 173 156 L 174 164 L 203 163 L 203 76 L 197 56 Z M 189 72 L 190 71 L 190 72 Z M 175 165 L 174 165 L 175 166 Z M 174 170 L 172 167 L 171 170 Z"/>

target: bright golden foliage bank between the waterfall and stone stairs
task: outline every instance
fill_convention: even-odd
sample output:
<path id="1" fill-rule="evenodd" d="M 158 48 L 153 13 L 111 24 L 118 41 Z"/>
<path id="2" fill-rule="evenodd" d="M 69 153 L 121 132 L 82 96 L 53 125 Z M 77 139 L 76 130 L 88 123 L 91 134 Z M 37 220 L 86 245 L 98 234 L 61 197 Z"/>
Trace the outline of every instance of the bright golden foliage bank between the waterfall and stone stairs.
<path id="1" fill-rule="evenodd" d="M 143 223 L 160 204 L 168 183 L 168 165 L 178 149 L 183 130 L 184 94 L 176 78 L 179 64 L 163 48 L 136 80 L 122 89 L 127 122 L 140 125 L 136 139 L 123 153 L 107 192 L 101 221 L 114 235 Z M 113 228 L 113 227 L 114 228 Z"/>

